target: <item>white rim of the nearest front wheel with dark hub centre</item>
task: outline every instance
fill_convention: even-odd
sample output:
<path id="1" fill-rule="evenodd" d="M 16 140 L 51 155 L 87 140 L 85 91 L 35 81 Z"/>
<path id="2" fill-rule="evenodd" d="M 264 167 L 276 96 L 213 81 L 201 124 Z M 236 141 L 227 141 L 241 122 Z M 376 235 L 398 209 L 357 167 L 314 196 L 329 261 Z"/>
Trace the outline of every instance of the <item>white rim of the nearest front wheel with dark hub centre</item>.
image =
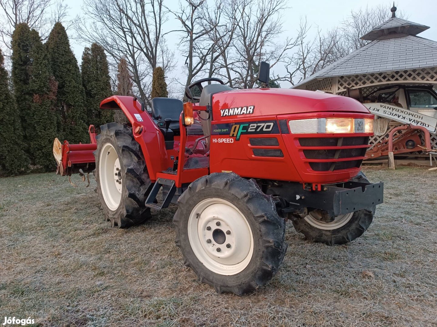
<path id="1" fill-rule="evenodd" d="M 249 265 L 253 255 L 252 230 L 232 203 L 219 198 L 200 201 L 191 211 L 187 228 L 191 249 L 212 272 L 235 275 Z"/>

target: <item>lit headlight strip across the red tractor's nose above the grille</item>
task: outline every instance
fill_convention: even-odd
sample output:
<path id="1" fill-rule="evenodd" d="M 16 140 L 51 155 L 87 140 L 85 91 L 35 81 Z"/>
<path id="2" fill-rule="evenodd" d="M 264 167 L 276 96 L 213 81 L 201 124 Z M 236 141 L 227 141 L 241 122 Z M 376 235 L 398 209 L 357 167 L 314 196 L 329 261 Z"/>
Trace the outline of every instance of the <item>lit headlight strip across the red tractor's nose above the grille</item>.
<path id="1" fill-rule="evenodd" d="M 310 118 L 289 120 L 293 134 L 312 133 L 373 133 L 373 119 Z"/>

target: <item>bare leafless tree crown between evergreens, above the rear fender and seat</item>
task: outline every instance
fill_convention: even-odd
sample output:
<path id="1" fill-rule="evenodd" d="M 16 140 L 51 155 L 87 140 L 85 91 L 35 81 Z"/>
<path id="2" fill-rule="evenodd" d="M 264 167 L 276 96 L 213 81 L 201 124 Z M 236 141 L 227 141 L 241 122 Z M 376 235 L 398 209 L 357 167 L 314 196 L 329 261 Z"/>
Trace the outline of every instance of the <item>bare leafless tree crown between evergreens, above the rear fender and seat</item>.
<path id="1" fill-rule="evenodd" d="M 168 75 L 175 68 L 174 51 L 163 37 L 163 0 L 85 0 L 83 9 L 75 24 L 78 39 L 100 44 L 110 56 L 112 72 L 125 58 L 134 92 L 150 105 L 153 70 L 161 66 Z"/>

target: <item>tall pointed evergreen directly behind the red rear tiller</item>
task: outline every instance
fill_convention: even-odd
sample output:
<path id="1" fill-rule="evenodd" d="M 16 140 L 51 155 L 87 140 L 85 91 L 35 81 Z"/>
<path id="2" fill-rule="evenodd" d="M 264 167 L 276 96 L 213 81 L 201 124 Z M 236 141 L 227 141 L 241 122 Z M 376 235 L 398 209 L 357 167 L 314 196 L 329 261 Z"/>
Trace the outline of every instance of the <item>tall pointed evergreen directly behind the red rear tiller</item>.
<path id="1" fill-rule="evenodd" d="M 88 143 L 82 78 L 77 60 L 70 49 L 67 33 L 61 23 L 55 24 L 46 45 L 53 76 L 58 83 L 56 108 L 62 117 L 62 136 L 70 143 Z"/>

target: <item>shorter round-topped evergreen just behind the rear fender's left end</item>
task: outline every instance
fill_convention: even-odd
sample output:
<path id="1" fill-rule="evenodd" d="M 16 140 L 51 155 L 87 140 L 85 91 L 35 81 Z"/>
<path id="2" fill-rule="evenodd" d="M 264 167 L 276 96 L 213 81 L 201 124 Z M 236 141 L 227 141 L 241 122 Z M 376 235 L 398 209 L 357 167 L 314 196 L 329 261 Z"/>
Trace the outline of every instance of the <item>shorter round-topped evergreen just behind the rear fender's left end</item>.
<path id="1" fill-rule="evenodd" d="M 101 110 L 100 102 L 112 95 L 108 60 L 97 43 L 85 48 L 82 55 L 82 84 L 85 89 L 87 123 L 101 126 L 114 121 L 113 110 Z"/>

